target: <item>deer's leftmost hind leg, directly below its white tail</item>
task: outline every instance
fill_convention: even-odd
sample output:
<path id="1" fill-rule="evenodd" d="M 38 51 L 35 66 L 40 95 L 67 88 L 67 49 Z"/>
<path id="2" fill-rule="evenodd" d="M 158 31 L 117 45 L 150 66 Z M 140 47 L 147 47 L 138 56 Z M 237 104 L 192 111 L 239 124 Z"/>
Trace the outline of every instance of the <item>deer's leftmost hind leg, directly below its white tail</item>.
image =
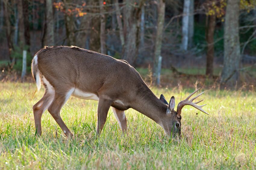
<path id="1" fill-rule="evenodd" d="M 40 99 L 35 105 L 33 105 L 36 134 L 39 136 L 41 136 L 42 134 L 41 118 L 43 112 L 48 109 L 54 99 L 54 93 L 52 92 L 52 90 L 48 90 L 46 87 L 46 91 L 42 99 Z"/>

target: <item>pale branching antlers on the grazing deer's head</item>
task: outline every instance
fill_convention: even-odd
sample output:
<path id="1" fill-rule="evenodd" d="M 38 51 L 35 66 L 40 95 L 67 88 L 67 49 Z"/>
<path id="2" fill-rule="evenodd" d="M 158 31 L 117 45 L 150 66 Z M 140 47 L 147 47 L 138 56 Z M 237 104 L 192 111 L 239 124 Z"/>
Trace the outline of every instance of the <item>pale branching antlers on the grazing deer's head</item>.
<path id="1" fill-rule="evenodd" d="M 200 89 L 200 88 L 199 88 L 199 89 Z M 178 118 L 180 118 L 181 109 L 182 109 L 185 105 L 191 105 L 191 106 L 193 106 L 194 108 L 196 108 L 196 109 L 198 109 L 198 110 L 204 112 L 205 114 L 209 115 L 207 112 L 205 112 L 205 111 L 202 109 L 202 107 L 205 106 L 205 105 L 207 105 L 207 104 L 204 104 L 204 105 L 201 105 L 201 106 L 196 105 L 196 104 L 198 104 L 199 102 L 201 102 L 201 101 L 203 101 L 203 100 L 200 100 L 200 101 L 198 101 L 198 102 L 194 102 L 194 103 L 193 103 L 193 100 L 196 99 L 196 98 L 198 98 L 199 96 L 201 96 L 204 92 L 202 92 L 202 93 L 198 94 L 197 96 L 193 97 L 191 100 L 188 100 L 188 99 L 189 99 L 193 94 L 195 94 L 199 89 L 197 89 L 196 91 L 194 91 L 193 93 L 191 93 L 191 94 L 187 97 L 187 99 L 182 100 L 181 102 L 179 102 L 178 107 L 177 107 L 177 113 L 178 113 L 178 114 L 177 114 L 177 117 L 178 117 Z"/>

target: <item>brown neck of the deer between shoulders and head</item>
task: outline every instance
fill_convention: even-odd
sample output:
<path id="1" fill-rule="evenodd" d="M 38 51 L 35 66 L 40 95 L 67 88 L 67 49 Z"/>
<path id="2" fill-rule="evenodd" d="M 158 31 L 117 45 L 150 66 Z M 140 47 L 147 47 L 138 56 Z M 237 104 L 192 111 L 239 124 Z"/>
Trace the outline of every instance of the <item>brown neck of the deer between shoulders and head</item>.
<path id="1" fill-rule="evenodd" d="M 147 87 L 144 90 L 137 91 L 136 99 L 131 108 L 151 118 L 157 124 L 162 124 L 168 105 L 158 99 L 154 93 Z"/>

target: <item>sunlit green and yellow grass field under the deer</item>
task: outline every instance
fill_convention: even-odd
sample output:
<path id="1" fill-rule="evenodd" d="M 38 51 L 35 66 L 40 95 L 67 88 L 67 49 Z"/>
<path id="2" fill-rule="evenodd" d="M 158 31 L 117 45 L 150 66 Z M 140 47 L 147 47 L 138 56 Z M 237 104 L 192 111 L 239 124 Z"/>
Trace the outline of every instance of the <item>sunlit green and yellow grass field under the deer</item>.
<path id="1" fill-rule="evenodd" d="M 180 92 L 152 88 L 170 99 Z M 126 111 L 123 136 L 109 110 L 103 133 L 96 137 L 97 102 L 71 97 L 62 118 L 73 132 L 67 140 L 51 117 L 42 117 L 42 137 L 35 137 L 32 106 L 42 96 L 34 83 L 0 83 L 0 169 L 236 169 L 256 168 L 256 93 L 207 90 L 204 110 L 185 106 L 182 137 L 172 140 L 151 119 Z M 183 89 L 183 99 L 194 89 Z M 198 116 L 196 113 L 198 112 Z"/>

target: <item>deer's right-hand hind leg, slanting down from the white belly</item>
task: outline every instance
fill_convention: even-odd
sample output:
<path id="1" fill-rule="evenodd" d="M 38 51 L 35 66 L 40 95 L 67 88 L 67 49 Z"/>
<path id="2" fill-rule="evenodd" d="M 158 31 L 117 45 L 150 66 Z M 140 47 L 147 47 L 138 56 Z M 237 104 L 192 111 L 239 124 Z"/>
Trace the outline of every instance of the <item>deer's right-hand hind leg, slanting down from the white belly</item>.
<path id="1" fill-rule="evenodd" d="M 71 90 L 69 90 L 66 93 L 63 93 L 63 92 L 61 94 L 55 93 L 55 99 L 53 100 L 52 104 L 48 108 L 49 113 L 52 115 L 54 120 L 57 122 L 57 124 L 60 126 L 60 128 L 62 129 L 62 131 L 67 137 L 73 137 L 73 134 L 71 133 L 67 125 L 62 120 L 60 116 L 60 111 L 62 106 L 67 102 L 67 100 L 69 99 L 69 97 L 73 92 L 74 92 L 74 88 L 71 88 Z"/>

